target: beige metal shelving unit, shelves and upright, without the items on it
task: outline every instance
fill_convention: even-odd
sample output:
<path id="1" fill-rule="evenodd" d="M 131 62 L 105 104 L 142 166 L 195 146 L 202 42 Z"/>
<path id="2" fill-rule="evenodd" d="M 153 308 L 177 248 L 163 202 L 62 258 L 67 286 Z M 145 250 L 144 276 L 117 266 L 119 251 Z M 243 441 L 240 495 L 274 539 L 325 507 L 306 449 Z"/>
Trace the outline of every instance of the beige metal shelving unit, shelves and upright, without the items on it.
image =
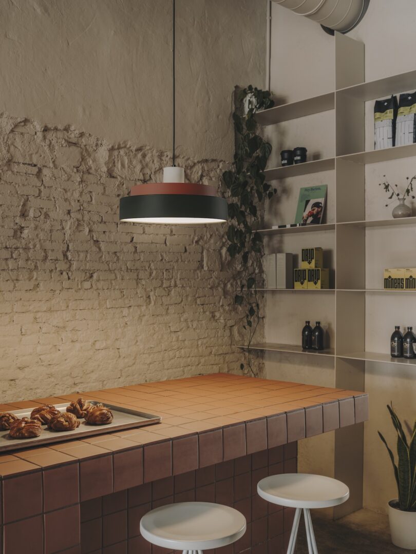
<path id="1" fill-rule="evenodd" d="M 406 219 L 366 220 L 365 166 L 369 163 L 398 160 L 416 156 L 416 144 L 378 151 L 365 150 L 365 102 L 416 88 L 416 71 L 388 76 L 376 81 L 364 81 L 364 44 L 336 33 L 334 91 L 314 98 L 273 107 L 257 114 L 262 125 L 297 119 L 305 115 L 334 110 L 335 153 L 333 158 L 314 160 L 302 165 L 277 167 L 266 171 L 267 179 L 282 179 L 318 171 L 335 172 L 335 222 L 316 227 L 262 229 L 265 235 L 331 231 L 334 233 L 334 295 L 335 341 L 333 350 L 313 356 L 331 356 L 334 360 L 334 386 L 364 390 L 366 362 L 415 365 L 414 360 L 394 359 L 377 352 L 366 352 L 366 295 L 374 293 L 414 294 L 412 291 L 384 291 L 366 288 L 366 229 L 390 225 L 415 224 L 416 217 Z M 339 106 L 339 109 L 338 109 Z M 354 197 L 354 203 L 348 199 Z M 344 255 L 354 245 L 355 271 Z M 265 292 L 268 289 L 263 289 Z M 272 289 L 275 291 L 275 289 Z M 276 293 L 289 294 L 287 289 Z M 293 291 L 305 294 L 317 291 Z M 326 296 L 325 296 L 326 297 Z M 326 297 L 327 298 L 327 297 Z M 354 325 L 351 325 L 351 321 Z M 301 348 L 293 345 L 264 343 L 253 348 L 285 352 L 296 356 Z M 304 353 L 305 356 L 310 354 Z M 351 497 L 337 507 L 336 517 L 362 507 L 363 424 L 339 429 L 334 443 L 334 475 L 348 484 Z"/>

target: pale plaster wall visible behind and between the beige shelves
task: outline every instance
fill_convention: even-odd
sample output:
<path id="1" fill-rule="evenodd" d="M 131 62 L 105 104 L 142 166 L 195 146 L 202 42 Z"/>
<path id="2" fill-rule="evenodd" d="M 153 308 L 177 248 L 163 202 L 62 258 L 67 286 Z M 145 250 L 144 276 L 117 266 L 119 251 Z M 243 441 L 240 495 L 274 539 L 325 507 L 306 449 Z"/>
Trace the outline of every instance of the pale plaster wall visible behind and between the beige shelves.
<path id="1" fill-rule="evenodd" d="M 366 80 L 414 69 L 414 26 L 416 10 L 412 0 L 390 2 L 372 0 L 366 16 L 348 35 L 365 44 Z M 272 3 L 272 48 L 271 89 L 281 101 L 296 101 L 318 95 L 334 88 L 334 46 L 333 37 L 323 32 L 318 24 L 297 16 L 285 8 Z M 416 83 L 414 86 L 416 89 Z M 413 90 L 414 90 L 413 89 Z M 397 91 L 397 93 L 404 91 Z M 366 106 L 366 148 L 373 143 L 373 102 Z M 270 127 L 270 137 L 275 146 L 274 156 L 282 148 L 306 146 L 311 158 L 333 156 L 334 121 L 333 112 L 304 117 L 293 122 Z M 383 175 L 390 182 L 403 183 L 406 176 L 415 173 L 414 159 L 373 164 L 366 168 L 366 217 L 383 219 L 390 217 L 394 204 L 385 207 L 385 197 L 378 183 Z M 321 178 L 331 187 L 327 173 L 311 176 L 313 183 Z M 302 179 L 302 180 L 301 180 Z M 272 209 L 271 217 L 294 212 L 297 189 L 310 184 L 308 178 L 286 179 L 281 184 L 280 204 Z M 310 179 L 310 181 L 312 181 Z M 328 188 L 331 191 L 331 188 Z M 415 207 L 413 207 L 415 208 Z M 274 210 L 274 212 L 273 212 Z M 414 212 L 416 213 L 416 212 Z M 328 204 L 327 218 L 333 219 L 331 204 Z M 285 220 L 286 222 L 286 220 Z M 313 233 L 314 234 L 314 233 Z M 321 235 L 323 233 L 319 233 Z M 321 237 L 319 237 L 321 239 Z M 406 244 L 413 244 L 415 229 L 409 225 L 400 229 L 368 229 L 366 234 L 367 288 L 382 288 L 384 267 L 416 264 L 414 252 Z M 286 240 L 286 239 L 285 239 Z M 409 242 L 408 242 L 409 241 Z M 302 241 L 301 241 L 302 242 Z M 325 243 L 327 244 L 327 243 Z M 319 244 L 314 241 L 314 246 Z M 309 244 L 306 244 L 309 246 Z M 283 251 L 292 252 L 292 244 L 279 245 Z M 301 244 L 298 245 L 301 247 Z M 329 247 L 330 248 L 330 247 Z M 276 251 L 276 250 L 275 250 Z M 281 250 L 278 250 L 281 251 Z M 295 250 L 297 252 L 297 250 Z M 413 265 L 410 265 L 413 266 Z M 292 293 L 291 293 L 292 294 Z M 315 304 L 308 304 L 314 311 L 325 302 L 321 297 Z M 373 352 L 389 351 L 389 337 L 394 325 L 415 325 L 415 300 L 413 296 L 396 297 L 386 294 L 367 294 L 366 349 Z M 273 322 L 280 310 L 281 300 L 272 293 L 267 296 L 266 336 L 278 333 Z M 321 312 L 323 310 L 321 309 Z M 307 319 L 312 314 L 308 311 Z M 298 321 L 298 332 L 292 332 L 292 341 L 300 340 L 300 331 L 305 310 L 298 303 L 285 311 L 287 321 Z M 328 322 L 330 320 L 328 319 Z M 351 325 L 354 322 L 351 321 Z M 293 324 L 292 324 L 293 325 Z M 269 378 L 290 376 L 293 381 L 334 385 L 333 368 L 328 362 L 322 367 L 306 365 L 301 357 L 270 355 L 266 358 L 266 372 Z M 333 366 L 331 366 L 333 367 Z M 415 419 L 416 381 L 411 366 L 367 363 L 366 391 L 370 395 L 370 420 L 365 424 L 364 437 L 364 507 L 385 512 L 387 502 L 397 496 L 392 467 L 387 452 L 377 436 L 382 430 L 387 440 L 394 444 L 394 431 L 385 405 L 393 401 L 399 416 L 413 424 Z M 318 444 L 319 440 L 319 444 Z M 333 437 L 323 435 L 319 439 L 308 439 L 299 444 L 300 471 L 331 473 Z"/>

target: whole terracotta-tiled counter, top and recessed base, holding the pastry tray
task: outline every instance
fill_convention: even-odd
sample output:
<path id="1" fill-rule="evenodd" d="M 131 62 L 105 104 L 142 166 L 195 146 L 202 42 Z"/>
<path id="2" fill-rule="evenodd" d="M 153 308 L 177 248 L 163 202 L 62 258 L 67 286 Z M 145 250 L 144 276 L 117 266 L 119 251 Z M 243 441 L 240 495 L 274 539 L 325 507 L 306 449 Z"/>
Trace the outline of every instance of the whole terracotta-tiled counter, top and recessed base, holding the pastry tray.
<path id="1" fill-rule="evenodd" d="M 163 423 L 0 456 L 4 554 L 166 553 L 141 539 L 140 517 L 187 500 L 246 516 L 246 535 L 218 553 L 279 554 L 293 514 L 262 501 L 257 481 L 296 471 L 297 440 L 368 418 L 363 393 L 222 374 L 83 396 Z"/>

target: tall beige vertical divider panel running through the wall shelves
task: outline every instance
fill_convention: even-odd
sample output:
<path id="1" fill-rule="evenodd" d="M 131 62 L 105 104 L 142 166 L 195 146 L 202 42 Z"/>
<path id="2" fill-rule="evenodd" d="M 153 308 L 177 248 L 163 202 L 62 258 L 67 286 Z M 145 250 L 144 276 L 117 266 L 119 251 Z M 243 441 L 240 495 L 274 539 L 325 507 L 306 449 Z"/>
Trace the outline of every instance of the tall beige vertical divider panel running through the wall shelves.
<path id="1" fill-rule="evenodd" d="M 335 89 L 364 82 L 364 44 L 335 33 Z M 364 102 L 351 96 L 335 96 L 335 155 L 364 150 Z M 365 219 L 365 168 L 358 163 L 335 160 L 336 222 Z M 357 218 L 357 219 L 356 219 Z M 366 232 L 363 228 L 335 229 L 336 289 L 366 287 Z M 365 350 L 365 293 L 335 291 L 335 353 Z M 356 326 L 356 327 L 354 327 Z M 354 350 L 354 348 L 353 348 Z M 334 386 L 364 390 L 365 362 L 334 358 Z M 350 497 L 333 510 L 334 519 L 363 506 L 364 426 L 350 425 L 335 431 L 334 477 L 345 483 Z"/>

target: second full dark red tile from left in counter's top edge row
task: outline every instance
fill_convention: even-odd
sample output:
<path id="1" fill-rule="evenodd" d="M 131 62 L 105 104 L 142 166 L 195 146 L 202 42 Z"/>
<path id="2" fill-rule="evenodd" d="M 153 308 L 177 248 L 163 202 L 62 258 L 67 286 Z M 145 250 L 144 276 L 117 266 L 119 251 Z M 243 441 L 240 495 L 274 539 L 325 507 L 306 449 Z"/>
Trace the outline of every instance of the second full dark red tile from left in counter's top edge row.
<path id="1" fill-rule="evenodd" d="M 66 464 L 43 471 L 44 511 L 59 510 L 79 502 L 79 464 Z"/>

